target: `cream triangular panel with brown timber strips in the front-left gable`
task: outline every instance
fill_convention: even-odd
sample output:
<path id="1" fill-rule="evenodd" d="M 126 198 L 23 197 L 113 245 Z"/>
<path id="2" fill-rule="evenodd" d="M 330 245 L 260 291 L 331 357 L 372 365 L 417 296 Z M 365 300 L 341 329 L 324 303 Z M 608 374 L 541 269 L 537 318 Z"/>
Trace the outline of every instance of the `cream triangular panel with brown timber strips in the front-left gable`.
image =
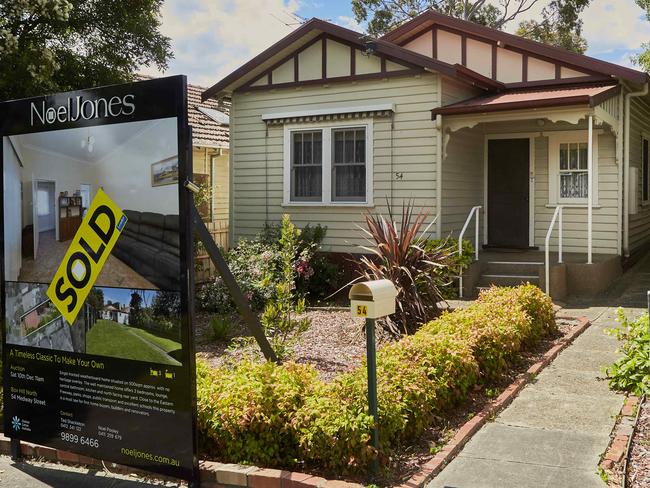
<path id="1" fill-rule="evenodd" d="M 420 66 L 322 33 L 236 91 L 388 78 L 423 71 Z"/>

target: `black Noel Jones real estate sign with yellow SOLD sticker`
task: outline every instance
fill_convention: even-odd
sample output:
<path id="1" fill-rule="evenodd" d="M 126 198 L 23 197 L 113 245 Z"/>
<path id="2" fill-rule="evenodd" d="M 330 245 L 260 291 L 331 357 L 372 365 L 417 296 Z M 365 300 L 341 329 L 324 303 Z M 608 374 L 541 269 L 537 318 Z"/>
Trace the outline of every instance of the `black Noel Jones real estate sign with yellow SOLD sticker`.
<path id="1" fill-rule="evenodd" d="M 5 435 L 196 479 L 177 76 L 0 104 Z"/>

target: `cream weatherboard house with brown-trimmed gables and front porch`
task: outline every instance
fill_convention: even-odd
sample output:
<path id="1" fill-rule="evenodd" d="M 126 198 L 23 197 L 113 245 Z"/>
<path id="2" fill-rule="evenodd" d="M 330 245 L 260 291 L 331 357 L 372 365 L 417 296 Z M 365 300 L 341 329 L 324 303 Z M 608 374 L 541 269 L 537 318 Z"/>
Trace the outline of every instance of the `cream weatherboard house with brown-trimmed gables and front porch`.
<path id="1" fill-rule="evenodd" d="M 480 247 L 466 293 L 555 297 L 606 289 L 650 243 L 634 69 L 432 11 L 380 39 L 312 19 L 203 99 L 231 102 L 231 241 L 289 213 L 360 252 L 363 213 L 413 199 L 434 236 Z"/>

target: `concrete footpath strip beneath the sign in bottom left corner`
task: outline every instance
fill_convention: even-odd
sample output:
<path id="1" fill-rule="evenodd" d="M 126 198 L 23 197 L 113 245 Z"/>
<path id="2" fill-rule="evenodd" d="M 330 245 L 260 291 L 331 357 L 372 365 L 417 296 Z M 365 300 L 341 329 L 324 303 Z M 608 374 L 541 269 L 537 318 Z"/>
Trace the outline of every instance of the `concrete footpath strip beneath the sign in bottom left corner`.
<path id="1" fill-rule="evenodd" d="M 181 485 L 160 481 L 151 484 L 132 476 L 112 475 L 103 471 L 73 468 L 61 464 L 14 463 L 7 456 L 0 456 L 0 486 L 2 488 L 151 488 Z"/>

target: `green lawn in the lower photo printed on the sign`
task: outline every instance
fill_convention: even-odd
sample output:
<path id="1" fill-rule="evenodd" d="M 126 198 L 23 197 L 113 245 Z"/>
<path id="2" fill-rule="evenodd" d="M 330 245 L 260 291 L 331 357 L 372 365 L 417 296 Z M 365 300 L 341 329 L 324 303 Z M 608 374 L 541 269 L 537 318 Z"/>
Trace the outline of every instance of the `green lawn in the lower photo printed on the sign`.
<path id="1" fill-rule="evenodd" d="M 117 322 L 98 320 L 86 334 L 86 353 L 178 366 L 178 361 L 162 353 L 152 341 L 133 332 L 134 329 Z M 180 344 L 174 349 L 179 347 Z"/>

